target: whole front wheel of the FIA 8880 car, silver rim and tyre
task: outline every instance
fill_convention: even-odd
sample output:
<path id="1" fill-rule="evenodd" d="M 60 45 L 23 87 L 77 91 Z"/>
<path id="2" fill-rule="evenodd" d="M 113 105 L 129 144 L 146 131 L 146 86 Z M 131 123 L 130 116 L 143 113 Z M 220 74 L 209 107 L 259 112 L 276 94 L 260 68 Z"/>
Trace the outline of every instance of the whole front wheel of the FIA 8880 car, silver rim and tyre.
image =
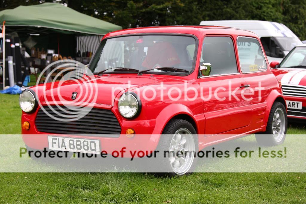
<path id="1" fill-rule="evenodd" d="M 163 175 L 175 176 L 193 172 L 196 167 L 198 138 L 196 130 L 188 121 L 173 119 L 165 127 L 158 150 L 169 152 L 157 161 L 157 168 L 165 169 Z M 158 169 L 157 169 L 158 170 Z"/>

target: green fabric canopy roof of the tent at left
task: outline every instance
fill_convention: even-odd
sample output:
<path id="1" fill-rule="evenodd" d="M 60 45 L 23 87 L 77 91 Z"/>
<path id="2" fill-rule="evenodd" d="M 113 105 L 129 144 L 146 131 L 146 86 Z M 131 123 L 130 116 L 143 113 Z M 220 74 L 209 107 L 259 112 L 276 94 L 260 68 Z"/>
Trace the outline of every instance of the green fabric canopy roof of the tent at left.
<path id="1" fill-rule="evenodd" d="M 1 24 L 105 35 L 121 26 L 85 15 L 59 3 L 18 6 L 0 12 Z"/>

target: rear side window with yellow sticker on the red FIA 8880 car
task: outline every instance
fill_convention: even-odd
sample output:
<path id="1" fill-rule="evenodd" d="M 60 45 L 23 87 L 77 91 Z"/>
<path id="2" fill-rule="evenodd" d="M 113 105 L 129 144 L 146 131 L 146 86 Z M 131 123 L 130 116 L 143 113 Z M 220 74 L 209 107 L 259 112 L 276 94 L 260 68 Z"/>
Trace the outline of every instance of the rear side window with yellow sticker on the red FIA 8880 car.
<path id="1" fill-rule="evenodd" d="M 267 63 L 257 39 L 238 37 L 238 55 L 243 73 L 267 70 Z"/>

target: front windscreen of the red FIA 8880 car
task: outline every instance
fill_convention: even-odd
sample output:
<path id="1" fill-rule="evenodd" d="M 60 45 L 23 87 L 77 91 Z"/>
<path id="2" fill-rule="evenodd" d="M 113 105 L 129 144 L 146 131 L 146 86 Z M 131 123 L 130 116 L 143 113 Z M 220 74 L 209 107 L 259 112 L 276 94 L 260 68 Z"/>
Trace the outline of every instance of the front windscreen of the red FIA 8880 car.
<path id="1" fill-rule="evenodd" d="M 192 71 L 196 40 L 181 35 L 131 35 L 101 42 L 89 69 L 98 73 L 118 68 L 167 72 L 154 68 L 174 67 Z M 114 69 L 111 69 L 114 68 Z M 184 72 L 183 72 L 184 73 Z M 174 73 L 170 73 L 174 74 Z M 184 73 L 185 74 L 185 73 Z"/>

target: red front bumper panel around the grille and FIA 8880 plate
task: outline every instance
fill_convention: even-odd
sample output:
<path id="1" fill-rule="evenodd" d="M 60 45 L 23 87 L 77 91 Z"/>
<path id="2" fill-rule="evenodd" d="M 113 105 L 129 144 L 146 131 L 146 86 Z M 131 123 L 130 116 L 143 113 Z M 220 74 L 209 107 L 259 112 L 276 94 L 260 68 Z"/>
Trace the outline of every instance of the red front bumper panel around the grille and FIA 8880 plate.
<path id="1" fill-rule="evenodd" d="M 124 120 L 121 116 L 118 116 L 118 112 L 116 109 L 110 106 L 95 106 L 95 108 L 100 109 L 109 109 L 111 110 L 118 122 L 121 126 L 121 134 L 116 135 L 81 135 L 81 134 L 59 134 L 59 133 L 48 133 L 48 132 L 40 132 L 36 125 L 35 119 L 39 108 L 35 111 L 35 113 L 27 114 L 23 113 L 21 116 L 21 124 L 24 121 L 28 121 L 30 124 L 30 128 L 28 130 L 22 129 L 22 139 L 26 146 L 43 150 L 44 148 L 48 148 L 48 136 L 58 136 L 58 137 L 72 137 L 72 138 L 80 138 L 80 139 L 98 139 L 100 140 L 100 150 L 106 151 L 108 153 L 113 151 L 119 151 L 122 148 L 126 148 L 126 151 L 144 151 L 150 152 L 154 151 L 159 143 L 159 137 L 161 132 L 156 132 L 156 121 L 155 120 L 146 120 L 146 121 L 137 121 L 137 120 Z M 128 138 L 125 134 L 125 131 L 129 128 L 135 130 L 135 136 L 132 138 Z M 127 154 L 129 155 L 129 154 Z"/>

